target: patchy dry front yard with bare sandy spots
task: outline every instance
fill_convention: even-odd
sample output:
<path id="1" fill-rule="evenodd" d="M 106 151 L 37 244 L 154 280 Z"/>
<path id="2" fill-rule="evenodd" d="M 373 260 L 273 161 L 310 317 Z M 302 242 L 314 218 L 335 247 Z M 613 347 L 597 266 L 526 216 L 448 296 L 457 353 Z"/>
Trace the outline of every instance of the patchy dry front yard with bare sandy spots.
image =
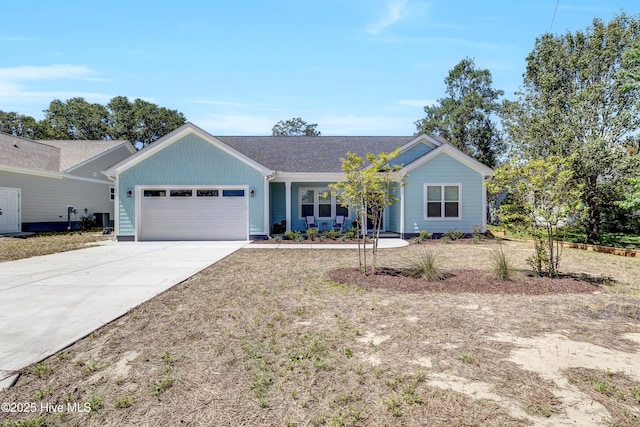
<path id="1" fill-rule="evenodd" d="M 381 252 L 391 270 L 437 253 L 450 273 L 438 284 L 346 280 L 355 250 L 240 250 L 25 369 L 0 401 L 35 410 L 0 417 L 5 426 L 638 425 L 640 260 L 566 249 L 567 282 L 557 285 L 527 274 L 528 244 L 503 245 L 514 281 L 490 273 L 495 241 Z"/>

